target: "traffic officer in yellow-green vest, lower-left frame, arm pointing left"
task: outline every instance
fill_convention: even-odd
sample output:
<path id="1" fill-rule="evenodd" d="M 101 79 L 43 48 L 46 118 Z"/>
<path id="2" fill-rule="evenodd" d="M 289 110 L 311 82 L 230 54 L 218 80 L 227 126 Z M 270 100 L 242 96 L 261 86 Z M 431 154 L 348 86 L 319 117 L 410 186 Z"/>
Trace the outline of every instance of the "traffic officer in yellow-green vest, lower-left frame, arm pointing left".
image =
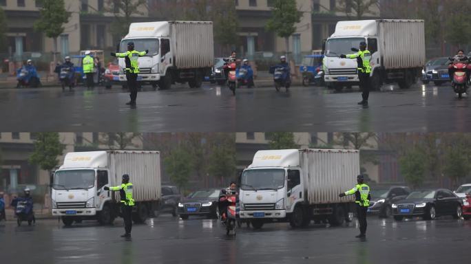
<path id="1" fill-rule="evenodd" d="M 121 197 L 121 213 L 125 221 L 125 234 L 121 237 L 131 237 L 132 229 L 132 208 L 134 206 L 134 199 L 132 199 L 132 183 L 129 182 L 129 175 L 123 175 L 120 186 L 108 187 L 105 186 L 104 190 L 119 190 Z"/>

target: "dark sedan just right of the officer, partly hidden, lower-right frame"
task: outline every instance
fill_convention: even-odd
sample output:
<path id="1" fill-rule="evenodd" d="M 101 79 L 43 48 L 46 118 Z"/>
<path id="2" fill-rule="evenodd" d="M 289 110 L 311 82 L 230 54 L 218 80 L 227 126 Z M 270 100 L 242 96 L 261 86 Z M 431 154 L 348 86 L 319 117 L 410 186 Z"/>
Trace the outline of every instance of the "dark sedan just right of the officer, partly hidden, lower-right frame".
<path id="1" fill-rule="evenodd" d="M 410 193 L 406 186 L 391 186 L 389 188 L 372 188 L 368 214 L 378 214 L 388 218 L 392 215 L 392 203 L 405 199 Z"/>

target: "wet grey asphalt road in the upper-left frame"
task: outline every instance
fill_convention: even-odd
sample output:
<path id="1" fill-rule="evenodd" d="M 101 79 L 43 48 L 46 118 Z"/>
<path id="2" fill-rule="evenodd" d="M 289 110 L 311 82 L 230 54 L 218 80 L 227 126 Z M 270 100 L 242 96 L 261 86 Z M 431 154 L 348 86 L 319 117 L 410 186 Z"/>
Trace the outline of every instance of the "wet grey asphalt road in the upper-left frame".
<path id="1" fill-rule="evenodd" d="M 138 93 L 137 107 L 125 105 L 121 87 L 87 91 L 76 87 L 0 89 L 2 131 L 235 131 L 235 97 L 227 87 L 205 83 L 200 89 L 175 85 L 166 91 L 149 86 Z"/>

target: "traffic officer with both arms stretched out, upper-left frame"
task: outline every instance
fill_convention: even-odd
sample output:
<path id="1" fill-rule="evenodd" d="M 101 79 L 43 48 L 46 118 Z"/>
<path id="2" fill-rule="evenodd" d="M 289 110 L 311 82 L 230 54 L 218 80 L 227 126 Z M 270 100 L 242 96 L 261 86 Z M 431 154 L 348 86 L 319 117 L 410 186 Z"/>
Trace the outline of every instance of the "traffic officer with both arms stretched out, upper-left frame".
<path id="1" fill-rule="evenodd" d="M 149 50 L 145 50 L 145 52 L 134 50 L 134 42 L 127 43 L 127 52 L 125 53 L 111 53 L 111 56 L 125 58 L 127 87 L 129 87 L 129 97 L 131 98 L 131 100 L 126 103 L 128 105 L 136 106 L 137 78 L 139 74 L 138 58 L 148 53 Z"/>

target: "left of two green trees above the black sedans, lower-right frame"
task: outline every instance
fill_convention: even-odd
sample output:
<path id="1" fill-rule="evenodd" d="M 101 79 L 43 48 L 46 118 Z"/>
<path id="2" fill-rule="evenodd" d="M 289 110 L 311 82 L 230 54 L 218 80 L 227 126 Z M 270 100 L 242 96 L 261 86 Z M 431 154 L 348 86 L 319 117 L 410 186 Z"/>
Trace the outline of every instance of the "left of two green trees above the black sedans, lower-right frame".
<path id="1" fill-rule="evenodd" d="M 421 186 L 425 173 L 425 158 L 423 151 L 418 148 L 407 151 L 399 157 L 399 171 L 412 188 Z"/>

